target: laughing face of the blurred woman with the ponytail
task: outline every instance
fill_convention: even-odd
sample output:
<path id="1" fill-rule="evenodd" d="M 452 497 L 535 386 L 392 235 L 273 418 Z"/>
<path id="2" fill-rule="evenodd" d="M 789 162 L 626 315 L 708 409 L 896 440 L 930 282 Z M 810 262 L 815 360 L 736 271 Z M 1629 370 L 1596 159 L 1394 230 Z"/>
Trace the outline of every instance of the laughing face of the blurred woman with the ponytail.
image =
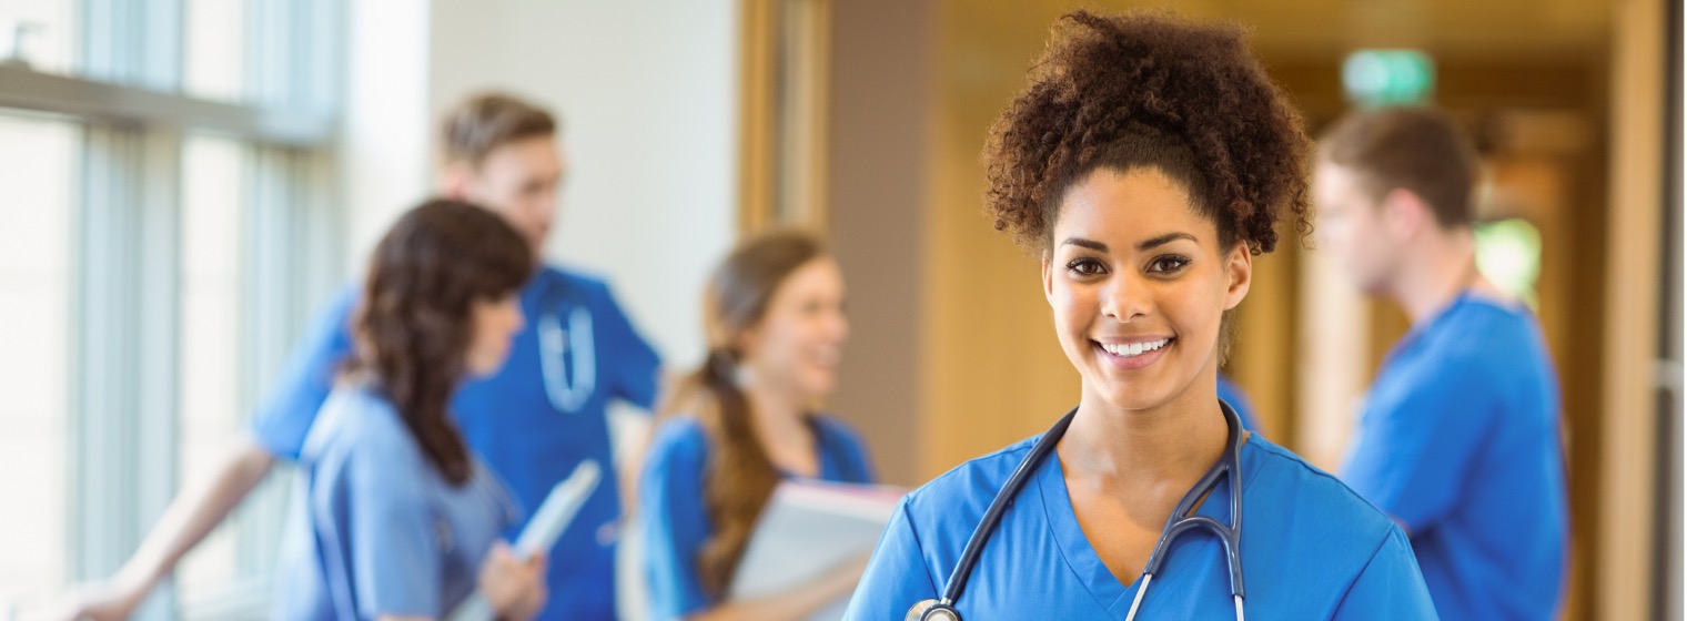
<path id="1" fill-rule="evenodd" d="M 832 258 L 815 258 L 779 284 L 761 322 L 744 334 L 744 363 L 751 381 L 803 400 L 823 398 L 847 338 L 844 273 Z"/>

